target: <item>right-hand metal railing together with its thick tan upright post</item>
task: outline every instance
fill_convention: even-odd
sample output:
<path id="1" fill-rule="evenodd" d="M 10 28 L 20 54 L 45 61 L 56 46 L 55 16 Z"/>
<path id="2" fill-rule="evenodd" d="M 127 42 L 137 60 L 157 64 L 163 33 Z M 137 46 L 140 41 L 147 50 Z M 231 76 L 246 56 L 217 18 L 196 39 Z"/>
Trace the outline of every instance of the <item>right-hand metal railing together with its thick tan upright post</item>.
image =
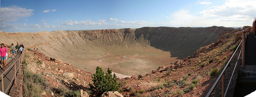
<path id="1" fill-rule="evenodd" d="M 210 89 L 210 91 L 207 93 L 206 97 L 209 97 L 209 96 L 211 95 L 212 91 L 214 90 L 214 88 L 216 87 L 216 85 L 218 84 L 218 82 L 220 81 L 220 78 L 221 78 L 221 77 L 222 77 L 222 97 L 225 97 L 225 96 L 226 96 L 226 94 L 227 94 L 227 92 L 228 92 L 229 85 L 230 85 L 230 83 L 231 83 L 231 79 L 232 79 L 232 77 L 233 77 L 233 75 L 234 75 L 234 71 L 235 71 L 235 69 L 236 69 L 236 65 L 237 65 L 237 63 L 238 63 L 238 59 L 239 59 L 239 57 L 240 57 L 240 55 L 241 55 L 241 52 L 243 53 L 243 50 L 244 50 L 244 53 L 243 53 L 243 54 L 245 54 L 245 41 L 246 41 L 246 37 L 247 37 L 247 35 L 248 35 L 247 32 L 249 32 L 248 30 L 250 30 L 250 28 L 245 29 L 245 30 L 242 30 L 242 31 L 240 31 L 240 32 L 236 32 L 236 35 L 237 35 L 237 34 L 243 34 L 243 35 L 242 35 L 242 38 L 244 38 L 244 39 L 240 42 L 240 44 L 239 44 L 238 47 L 236 48 L 236 51 L 234 51 L 232 57 L 230 57 L 230 60 L 228 61 L 228 63 L 226 64 L 226 66 L 224 67 L 224 69 L 222 70 L 222 72 L 220 73 L 220 76 L 219 76 L 218 79 L 215 81 L 215 83 L 213 84 L 213 86 L 212 86 L 212 88 Z M 245 33 L 245 34 L 244 34 L 244 33 Z M 243 44 L 242 50 L 241 50 L 240 53 L 238 54 L 238 49 L 240 48 L 241 44 Z M 224 92 L 224 72 L 226 71 L 226 68 L 228 67 L 228 64 L 230 63 L 230 61 L 232 60 L 232 58 L 234 57 L 234 55 L 236 54 L 236 52 L 237 52 L 236 65 L 235 65 L 235 67 L 234 67 L 234 69 L 233 69 L 233 72 L 232 72 L 232 75 L 231 75 L 230 80 L 229 80 L 229 82 L 228 82 L 228 86 L 227 86 L 227 88 L 226 88 L 226 91 Z M 245 56 L 244 56 L 244 58 L 245 58 Z M 242 59 L 243 59 L 243 58 L 242 58 Z M 245 61 L 245 60 L 242 60 L 242 63 L 243 63 L 243 61 Z"/>

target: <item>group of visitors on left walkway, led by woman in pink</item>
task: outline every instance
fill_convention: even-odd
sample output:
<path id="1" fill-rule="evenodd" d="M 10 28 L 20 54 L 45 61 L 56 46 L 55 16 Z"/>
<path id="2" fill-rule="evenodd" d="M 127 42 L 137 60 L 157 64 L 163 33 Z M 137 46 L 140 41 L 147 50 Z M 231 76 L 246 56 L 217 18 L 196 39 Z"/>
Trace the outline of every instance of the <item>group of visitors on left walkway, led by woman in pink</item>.
<path id="1" fill-rule="evenodd" d="M 12 46 L 11 46 L 11 51 L 12 51 L 12 59 L 15 59 L 15 52 L 18 52 L 20 51 L 20 54 L 22 53 L 24 49 L 24 46 L 23 44 L 18 44 L 17 42 L 17 45 L 14 47 L 14 44 L 12 43 Z M 2 71 L 5 71 L 6 69 L 6 60 L 7 60 L 7 57 L 8 57 L 8 53 L 7 53 L 7 49 L 6 47 L 4 46 L 4 44 L 1 44 L 1 48 L 0 48 L 0 56 L 1 56 L 1 60 L 2 60 Z"/>

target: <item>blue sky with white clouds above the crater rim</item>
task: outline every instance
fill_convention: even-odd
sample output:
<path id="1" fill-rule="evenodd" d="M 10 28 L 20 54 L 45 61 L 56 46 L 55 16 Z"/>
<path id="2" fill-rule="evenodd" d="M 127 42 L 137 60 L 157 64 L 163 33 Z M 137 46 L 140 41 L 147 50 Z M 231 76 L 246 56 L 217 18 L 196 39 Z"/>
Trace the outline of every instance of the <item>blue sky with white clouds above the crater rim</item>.
<path id="1" fill-rule="evenodd" d="M 0 0 L 0 31 L 252 26 L 256 0 Z"/>

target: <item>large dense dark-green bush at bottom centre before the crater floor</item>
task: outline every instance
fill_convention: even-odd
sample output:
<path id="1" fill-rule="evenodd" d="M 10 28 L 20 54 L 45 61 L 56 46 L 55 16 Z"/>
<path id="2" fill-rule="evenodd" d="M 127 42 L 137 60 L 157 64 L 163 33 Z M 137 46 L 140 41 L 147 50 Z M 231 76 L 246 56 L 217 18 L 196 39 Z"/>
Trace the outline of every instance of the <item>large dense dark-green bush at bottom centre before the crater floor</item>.
<path id="1" fill-rule="evenodd" d="M 121 84 L 117 82 L 116 74 L 112 75 L 111 73 L 112 70 L 108 68 L 107 73 L 104 75 L 104 71 L 98 66 L 96 73 L 92 74 L 92 81 L 94 83 L 89 84 L 90 88 L 98 91 L 98 95 L 106 91 L 119 91 Z"/>

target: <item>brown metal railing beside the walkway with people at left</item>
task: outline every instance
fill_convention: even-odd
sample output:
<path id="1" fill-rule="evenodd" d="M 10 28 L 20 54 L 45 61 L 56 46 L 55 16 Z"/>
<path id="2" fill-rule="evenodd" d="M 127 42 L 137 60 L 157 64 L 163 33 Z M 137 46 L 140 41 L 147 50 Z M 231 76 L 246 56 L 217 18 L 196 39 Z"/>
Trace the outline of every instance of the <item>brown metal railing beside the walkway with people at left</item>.
<path id="1" fill-rule="evenodd" d="M 15 78 L 15 85 L 16 85 L 16 74 L 18 73 L 18 71 L 19 71 L 19 73 L 20 73 L 20 67 L 21 67 L 21 64 L 22 64 L 22 60 L 23 60 L 23 57 L 24 57 L 24 53 L 25 53 L 25 49 L 24 49 L 24 51 L 23 51 L 23 53 L 20 55 L 20 57 L 19 57 L 19 59 L 17 59 L 12 65 L 10 65 L 10 67 L 8 67 L 7 69 L 6 69 L 6 71 L 4 71 L 2 74 L 0 74 L 0 76 L 1 76 L 1 78 L 2 78 L 2 92 L 4 92 L 4 93 L 6 93 L 7 92 L 7 90 L 9 89 L 9 87 L 10 87 L 10 85 L 12 84 L 12 81 L 14 80 L 14 78 Z M 19 61 L 19 69 L 16 71 L 16 62 L 17 61 Z M 13 68 L 13 66 L 14 66 L 14 71 L 15 71 L 15 73 L 14 73 L 14 77 L 12 77 L 12 80 L 10 81 L 10 84 L 8 85 L 8 87 L 7 87 L 7 89 L 4 91 L 4 73 L 6 73 L 6 72 L 9 72 L 9 69 L 12 69 Z"/>

